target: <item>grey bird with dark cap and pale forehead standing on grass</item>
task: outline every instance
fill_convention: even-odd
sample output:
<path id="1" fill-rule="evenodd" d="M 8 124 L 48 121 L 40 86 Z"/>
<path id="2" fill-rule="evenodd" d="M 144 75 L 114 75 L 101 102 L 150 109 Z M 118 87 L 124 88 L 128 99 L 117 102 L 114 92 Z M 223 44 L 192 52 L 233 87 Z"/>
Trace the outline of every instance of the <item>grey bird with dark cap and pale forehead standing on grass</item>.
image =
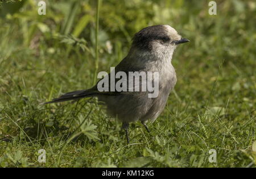
<path id="1" fill-rule="evenodd" d="M 90 89 L 71 91 L 45 104 L 97 97 L 98 102 L 103 102 L 106 106 L 107 113 L 122 122 L 122 129 L 125 130 L 126 140 L 129 143 L 129 124 L 131 122 L 139 120 L 147 132 L 150 132 L 147 123 L 154 122 L 164 110 L 168 96 L 177 81 L 175 68 L 171 63 L 172 55 L 177 45 L 188 41 L 167 24 L 142 28 L 134 35 L 127 56 L 115 66 L 115 74 L 124 72 L 128 76 L 130 72 L 158 72 L 158 78 L 155 76 L 151 78 L 151 82 L 158 82 L 156 97 L 149 97 L 150 91 L 148 90 L 99 90 L 98 84 L 105 79 L 102 78 Z M 108 76 L 111 76 L 111 73 L 107 73 Z M 117 79 L 114 80 L 114 83 L 117 83 Z M 139 81 L 139 85 L 142 85 L 142 81 Z"/>

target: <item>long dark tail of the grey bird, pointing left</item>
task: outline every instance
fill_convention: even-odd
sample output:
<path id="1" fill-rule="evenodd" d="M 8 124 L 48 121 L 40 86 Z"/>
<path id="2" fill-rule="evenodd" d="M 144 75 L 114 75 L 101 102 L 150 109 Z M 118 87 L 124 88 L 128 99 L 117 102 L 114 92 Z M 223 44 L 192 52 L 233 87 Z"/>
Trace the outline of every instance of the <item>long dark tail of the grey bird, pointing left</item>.
<path id="1" fill-rule="evenodd" d="M 92 97 L 96 94 L 97 94 L 96 92 L 89 91 L 89 90 L 71 91 L 69 93 L 65 93 L 65 94 L 61 95 L 59 98 L 55 98 L 55 99 L 52 99 L 52 101 L 44 103 L 44 105 L 49 104 L 49 103 L 55 103 L 55 102 L 76 100 L 76 99 L 81 99 L 84 97 Z"/>

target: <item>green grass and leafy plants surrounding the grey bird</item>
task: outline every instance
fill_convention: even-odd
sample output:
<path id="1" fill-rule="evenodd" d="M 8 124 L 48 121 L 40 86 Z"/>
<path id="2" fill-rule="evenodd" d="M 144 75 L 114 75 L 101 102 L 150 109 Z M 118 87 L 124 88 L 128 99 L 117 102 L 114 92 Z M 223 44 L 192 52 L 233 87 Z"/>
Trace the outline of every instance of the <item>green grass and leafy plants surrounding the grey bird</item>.
<path id="1" fill-rule="evenodd" d="M 207 1 L 102 1 L 97 43 L 96 2 L 51 1 L 46 16 L 33 2 L 1 9 L 1 167 L 256 166 L 254 1 L 217 1 L 216 16 Z M 41 105 L 90 88 L 95 64 L 109 71 L 133 34 L 152 24 L 170 24 L 191 42 L 176 49 L 175 91 L 150 135 L 135 122 L 127 145 L 121 123 L 96 99 Z M 38 162 L 39 149 L 46 163 Z M 209 163 L 209 149 L 217 163 Z"/>

